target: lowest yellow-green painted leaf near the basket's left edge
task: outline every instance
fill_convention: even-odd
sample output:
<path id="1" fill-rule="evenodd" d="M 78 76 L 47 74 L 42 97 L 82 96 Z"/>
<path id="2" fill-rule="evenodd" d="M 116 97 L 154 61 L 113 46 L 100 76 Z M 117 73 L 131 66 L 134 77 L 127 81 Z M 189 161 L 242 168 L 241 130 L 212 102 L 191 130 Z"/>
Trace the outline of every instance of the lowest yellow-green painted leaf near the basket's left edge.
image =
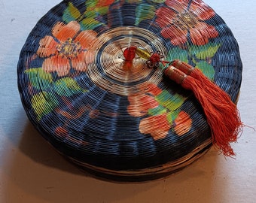
<path id="1" fill-rule="evenodd" d="M 52 98 L 47 92 L 40 92 L 33 95 L 31 102 L 38 120 L 41 120 L 42 117 L 50 114 L 50 112 L 58 105 L 58 101 L 54 100 L 54 98 Z"/>

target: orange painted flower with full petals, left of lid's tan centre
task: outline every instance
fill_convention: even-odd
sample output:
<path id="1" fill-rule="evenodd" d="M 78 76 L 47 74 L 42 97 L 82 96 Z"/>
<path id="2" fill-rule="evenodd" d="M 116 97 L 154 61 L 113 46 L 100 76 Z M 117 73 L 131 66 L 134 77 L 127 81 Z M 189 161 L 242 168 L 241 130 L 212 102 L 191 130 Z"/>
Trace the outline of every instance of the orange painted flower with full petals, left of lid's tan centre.
<path id="1" fill-rule="evenodd" d="M 80 32 L 76 21 L 68 24 L 56 23 L 53 36 L 47 35 L 39 42 L 37 54 L 44 57 L 42 68 L 47 73 L 54 72 L 61 76 L 69 74 L 71 68 L 86 71 L 87 64 L 93 62 L 91 44 L 96 40 L 96 32 Z"/>

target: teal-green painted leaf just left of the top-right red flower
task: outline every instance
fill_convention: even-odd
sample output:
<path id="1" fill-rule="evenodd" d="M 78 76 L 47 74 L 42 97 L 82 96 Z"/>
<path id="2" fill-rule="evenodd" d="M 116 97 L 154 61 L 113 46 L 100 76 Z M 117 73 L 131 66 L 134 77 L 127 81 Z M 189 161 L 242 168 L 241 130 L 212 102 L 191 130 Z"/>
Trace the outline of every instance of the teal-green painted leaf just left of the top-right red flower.
<path id="1" fill-rule="evenodd" d="M 142 22 L 142 20 L 151 20 L 155 16 L 156 9 L 154 5 L 140 4 L 136 8 L 136 26 Z"/>

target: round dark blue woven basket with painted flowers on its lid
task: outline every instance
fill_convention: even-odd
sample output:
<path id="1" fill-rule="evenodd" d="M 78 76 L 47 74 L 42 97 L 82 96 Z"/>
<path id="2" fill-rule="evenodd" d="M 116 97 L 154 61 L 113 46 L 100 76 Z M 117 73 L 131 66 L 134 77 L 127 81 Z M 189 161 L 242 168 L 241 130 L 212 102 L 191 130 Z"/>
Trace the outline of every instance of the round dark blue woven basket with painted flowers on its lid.
<path id="1" fill-rule="evenodd" d="M 33 126 L 59 153 L 98 177 L 152 180 L 184 168 L 212 146 L 193 92 L 123 51 L 142 47 L 180 59 L 236 102 L 239 47 L 201 0 L 62 1 L 21 50 L 18 87 Z"/>

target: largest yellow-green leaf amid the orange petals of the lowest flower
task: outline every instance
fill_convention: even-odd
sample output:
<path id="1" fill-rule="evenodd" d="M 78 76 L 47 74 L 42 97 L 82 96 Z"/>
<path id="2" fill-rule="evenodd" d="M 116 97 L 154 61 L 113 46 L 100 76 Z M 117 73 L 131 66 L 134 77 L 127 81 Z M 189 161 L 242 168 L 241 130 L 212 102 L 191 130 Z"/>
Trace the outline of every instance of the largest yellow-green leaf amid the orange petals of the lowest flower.
<path id="1" fill-rule="evenodd" d="M 166 89 L 160 93 L 160 95 L 156 96 L 156 101 L 159 102 L 160 105 L 163 105 L 169 111 L 175 111 L 180 108 L 184 102 L 184 97 L 178 94 L 171 95 Z"/>

